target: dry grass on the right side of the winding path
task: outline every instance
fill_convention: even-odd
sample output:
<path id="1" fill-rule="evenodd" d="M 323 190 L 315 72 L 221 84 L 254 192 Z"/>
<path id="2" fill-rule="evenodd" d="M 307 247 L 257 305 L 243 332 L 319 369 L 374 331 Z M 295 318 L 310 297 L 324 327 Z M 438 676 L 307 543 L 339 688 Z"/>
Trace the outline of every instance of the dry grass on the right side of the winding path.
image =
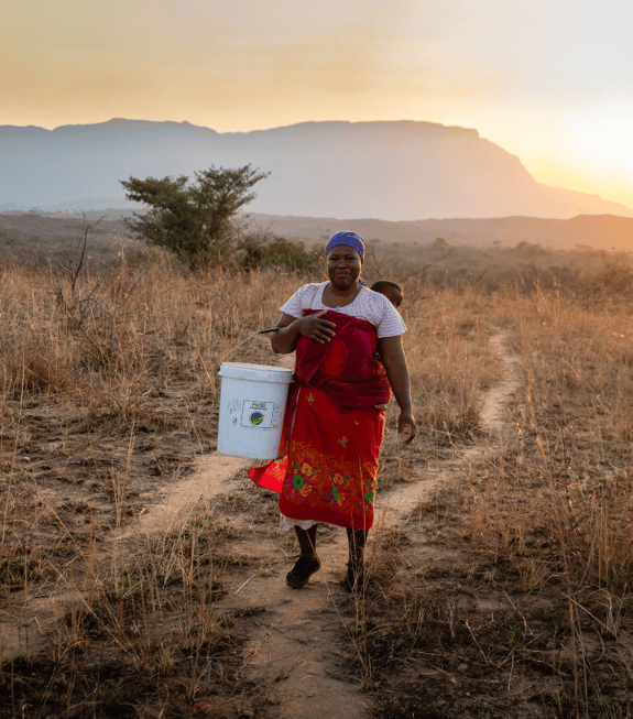
<path id="1" fill-rule="evenodd" d="M 632 302 L 602 280 L 470 303 L 522 381 L 488 453 L 381 547 L 350 608 L 374 716 L 631 716 Z M 421 530 L 439 564 L 412 556 Z"/>

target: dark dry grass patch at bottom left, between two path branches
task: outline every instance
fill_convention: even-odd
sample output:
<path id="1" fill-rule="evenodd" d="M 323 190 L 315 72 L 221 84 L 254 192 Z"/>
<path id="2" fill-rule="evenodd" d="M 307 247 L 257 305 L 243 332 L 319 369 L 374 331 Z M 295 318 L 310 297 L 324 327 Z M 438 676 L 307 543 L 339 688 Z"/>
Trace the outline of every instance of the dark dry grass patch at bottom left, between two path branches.
<path id="1" fill-rule="evenodd" d="M 263 701 L 240 675 L 239 620 L 215 610 L 237 562 L 227 530 L 200 513 L 108 564 L 84 557 L 83 586 L 58 576 L 78 595 L 45 653 L 2 667 L 0 716 L 227 716 Z"/>

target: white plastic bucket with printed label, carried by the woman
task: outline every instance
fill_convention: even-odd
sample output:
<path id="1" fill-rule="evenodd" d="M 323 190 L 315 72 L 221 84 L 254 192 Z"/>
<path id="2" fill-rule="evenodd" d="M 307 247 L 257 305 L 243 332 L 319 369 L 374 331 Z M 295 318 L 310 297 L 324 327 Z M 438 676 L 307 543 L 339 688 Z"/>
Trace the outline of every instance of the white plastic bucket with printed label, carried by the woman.
<path id="1" fill-rule="evenodd" d="M 244 459 L 276 459 L 292 370 L 225 362 L 218 453 Z"/>

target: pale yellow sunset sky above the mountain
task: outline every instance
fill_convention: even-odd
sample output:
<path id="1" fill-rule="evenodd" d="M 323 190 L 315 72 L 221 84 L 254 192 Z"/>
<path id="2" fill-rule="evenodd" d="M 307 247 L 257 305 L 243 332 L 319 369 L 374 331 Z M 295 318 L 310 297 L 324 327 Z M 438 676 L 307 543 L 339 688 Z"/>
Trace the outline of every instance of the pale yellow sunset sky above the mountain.
<path id="1" fill-rule="evenodd" d="M 21 0 L 0 126 L 439 122 L 633 207 L 632 26 L 623 0 Z"/>

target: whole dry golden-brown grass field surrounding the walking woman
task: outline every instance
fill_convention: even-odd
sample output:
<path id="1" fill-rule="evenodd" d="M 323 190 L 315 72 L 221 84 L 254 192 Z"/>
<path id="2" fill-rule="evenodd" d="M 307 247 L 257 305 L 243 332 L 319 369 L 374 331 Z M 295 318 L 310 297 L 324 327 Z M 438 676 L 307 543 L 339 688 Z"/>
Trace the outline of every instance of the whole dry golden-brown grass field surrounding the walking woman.
<path id="1" fill-rule="evenodd" d="M 391 407 L 379 502 L 434 491 L 376 526 L 363 596 L 304 590 L 358 697 L 340 716 L 630 717 L 631 266 L 496 288 L 408 270 L 382 274 L 405 285 L 419 438 L 400 447 Z M 215 451 L 221 359 L 305 277 L 155 254 L 0 277 L 0 717 L 307 717 L 288 673 L 252 671 L 275 612 L 242 588 L 302 596 L 274 497 L 240 471 L 134 531 Z M 230 359 L 274 361 L 259 338 Z"/>

